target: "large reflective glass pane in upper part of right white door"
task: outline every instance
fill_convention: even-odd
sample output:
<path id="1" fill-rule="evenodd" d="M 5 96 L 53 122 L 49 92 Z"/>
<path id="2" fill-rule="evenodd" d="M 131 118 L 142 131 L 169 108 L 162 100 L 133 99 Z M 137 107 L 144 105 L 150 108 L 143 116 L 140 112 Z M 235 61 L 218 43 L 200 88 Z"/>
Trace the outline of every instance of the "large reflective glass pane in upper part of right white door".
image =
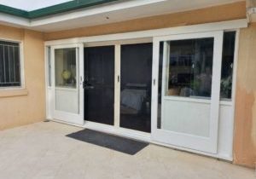
<path id="1" fill-rule="evenodd" d="M 166 95 L 210 98 L 213 38 L 167 42 Z"/>

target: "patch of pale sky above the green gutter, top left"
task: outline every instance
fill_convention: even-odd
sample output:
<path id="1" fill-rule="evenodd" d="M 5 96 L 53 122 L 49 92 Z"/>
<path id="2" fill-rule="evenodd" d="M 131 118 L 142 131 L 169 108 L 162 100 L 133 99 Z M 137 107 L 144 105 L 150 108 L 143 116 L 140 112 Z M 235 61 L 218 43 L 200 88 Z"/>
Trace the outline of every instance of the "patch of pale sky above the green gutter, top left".
<path id="1" fill-rule="evenodd" d="M 42 9 L 49 6 L 53 6 L 59 3 L 66 3 L 72 0 L 0 0 L 0 4 L 9 6 L 15 9 L 22 9 L 26 11 L 32 11 L 36 9 Z"/>

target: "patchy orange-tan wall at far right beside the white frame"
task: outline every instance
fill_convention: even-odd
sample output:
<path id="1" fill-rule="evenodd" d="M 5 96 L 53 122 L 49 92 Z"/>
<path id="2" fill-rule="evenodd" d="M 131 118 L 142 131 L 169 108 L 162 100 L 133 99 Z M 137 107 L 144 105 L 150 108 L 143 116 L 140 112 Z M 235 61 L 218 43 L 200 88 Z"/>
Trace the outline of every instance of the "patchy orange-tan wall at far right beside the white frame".
<path id="1" fill-rule="evenodd" d="M 256 165 L 256 23 L 241 29 L 236 82 L 234 163 Z"/>

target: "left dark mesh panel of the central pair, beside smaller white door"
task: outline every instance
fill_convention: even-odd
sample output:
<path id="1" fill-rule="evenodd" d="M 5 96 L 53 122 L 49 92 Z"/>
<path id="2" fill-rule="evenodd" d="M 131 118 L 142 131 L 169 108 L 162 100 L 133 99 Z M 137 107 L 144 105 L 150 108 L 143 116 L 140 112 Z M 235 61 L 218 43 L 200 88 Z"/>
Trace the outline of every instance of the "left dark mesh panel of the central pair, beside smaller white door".
<path id="1" fill-rule="evenodd" d="M 114 46 L 84 49 L 84 119 L 113 125 Z"/>

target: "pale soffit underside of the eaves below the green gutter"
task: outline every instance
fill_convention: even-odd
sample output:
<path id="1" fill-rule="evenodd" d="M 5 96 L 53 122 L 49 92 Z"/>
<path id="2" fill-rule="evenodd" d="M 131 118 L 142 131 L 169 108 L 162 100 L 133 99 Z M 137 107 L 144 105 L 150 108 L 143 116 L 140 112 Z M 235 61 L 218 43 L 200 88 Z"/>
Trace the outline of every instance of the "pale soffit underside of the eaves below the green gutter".
<path id="1" fill-rule="evenodd" d="M 241 1 L 244 0 L 126 0 L 30 21 L 0 14 L 0 23 L 9 23 L 41 32 L 55 32 Z M 6 19 L 5 16 L 8 18 Z"/>

